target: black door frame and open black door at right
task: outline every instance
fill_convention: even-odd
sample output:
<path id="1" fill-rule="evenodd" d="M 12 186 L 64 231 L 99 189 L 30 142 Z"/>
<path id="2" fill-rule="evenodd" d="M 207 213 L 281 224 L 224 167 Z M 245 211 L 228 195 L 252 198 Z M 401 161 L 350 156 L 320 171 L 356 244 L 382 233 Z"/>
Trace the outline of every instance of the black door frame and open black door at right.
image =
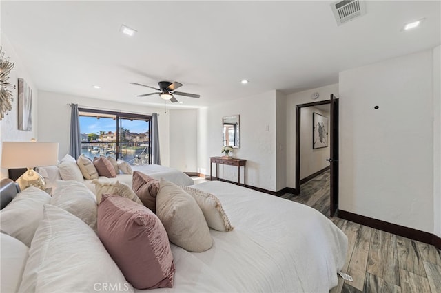
<path id="1" fill-rule="evenodd" d="M 319 102 L 309 102 L 296 105 L 296 194 L 300 194 L 300 164 L 301 164 L 301 109 L 305 107 L 318 107 L 320 105 L 329 105 L 329 162 L 330 169 L 330 195 L 329 206 L 330 215 L 334 216 L 338 210 L 338 98 L 331 95 L 329 100 Z M 312 129 L 311 129 L 312 131 Z M 314 140 L 314 134 L 313 134 Z M 313 142 L 314 143 L 314 142 Z"/>

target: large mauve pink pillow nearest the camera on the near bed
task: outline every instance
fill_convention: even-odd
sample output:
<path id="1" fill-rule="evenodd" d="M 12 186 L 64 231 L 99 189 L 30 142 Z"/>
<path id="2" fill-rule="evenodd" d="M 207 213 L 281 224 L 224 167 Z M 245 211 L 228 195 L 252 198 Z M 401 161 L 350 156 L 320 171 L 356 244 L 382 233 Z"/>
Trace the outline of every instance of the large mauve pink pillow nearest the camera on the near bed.
<path id="1" fill-rule="evenodd" d="M 151 210 L 125 197 L 103 195 L 98 236 L 133 287 L 173 287 L 175 268 L 167 232 Z"/>

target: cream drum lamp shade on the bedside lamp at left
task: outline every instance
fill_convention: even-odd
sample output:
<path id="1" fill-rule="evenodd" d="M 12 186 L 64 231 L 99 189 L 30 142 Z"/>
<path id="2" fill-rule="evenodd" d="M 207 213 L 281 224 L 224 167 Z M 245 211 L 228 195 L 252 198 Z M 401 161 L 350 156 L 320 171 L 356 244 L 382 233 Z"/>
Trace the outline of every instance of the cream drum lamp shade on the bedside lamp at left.
<path id="1" fill-rule="evenodd" d="M 58 164 L 57 142 L 3 142 L 1 167 L 29 168 Z"/>

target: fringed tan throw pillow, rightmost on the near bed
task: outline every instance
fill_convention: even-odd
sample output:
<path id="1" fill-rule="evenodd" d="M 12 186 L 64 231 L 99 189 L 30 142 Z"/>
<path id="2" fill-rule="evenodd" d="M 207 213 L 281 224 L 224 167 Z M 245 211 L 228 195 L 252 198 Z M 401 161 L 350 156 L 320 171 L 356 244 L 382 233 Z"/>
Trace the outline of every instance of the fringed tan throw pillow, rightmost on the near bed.
<path id="1" fill-rule="evenodd" d="M 220 232 L 228 232 L 233 230 L 233 226 L 229 222 L 227 214 L 225 213 L 225 210 L 223 209 L 222 204 L 220 204 L 220 200 L 216 197 L 216 195 L 205 193 L 204 191 L 200 191 L 199 189 L 189 186 L 181 186 L 181 188 L 196 199 L 196 202 L 198 203 L 199 208 L 201 208 L 209 228 L 218 230 Z"/>

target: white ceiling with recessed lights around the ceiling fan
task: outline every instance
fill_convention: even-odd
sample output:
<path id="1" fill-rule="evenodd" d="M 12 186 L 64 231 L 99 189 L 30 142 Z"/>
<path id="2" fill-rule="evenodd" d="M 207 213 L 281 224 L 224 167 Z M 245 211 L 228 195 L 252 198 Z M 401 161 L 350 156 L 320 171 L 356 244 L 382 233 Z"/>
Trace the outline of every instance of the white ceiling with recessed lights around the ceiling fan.
<path id="1" fill-rule="evenodd" d="M 340 26 L 333 2 L 1 1 L 1 31 L 39 90 L 163 105 L 129 83 L 176 80 L 201 95 L 176 96 L 178 107 L 329 85 L 342 70 L 440 45 L 440 1 L 367 1 Z"/>

